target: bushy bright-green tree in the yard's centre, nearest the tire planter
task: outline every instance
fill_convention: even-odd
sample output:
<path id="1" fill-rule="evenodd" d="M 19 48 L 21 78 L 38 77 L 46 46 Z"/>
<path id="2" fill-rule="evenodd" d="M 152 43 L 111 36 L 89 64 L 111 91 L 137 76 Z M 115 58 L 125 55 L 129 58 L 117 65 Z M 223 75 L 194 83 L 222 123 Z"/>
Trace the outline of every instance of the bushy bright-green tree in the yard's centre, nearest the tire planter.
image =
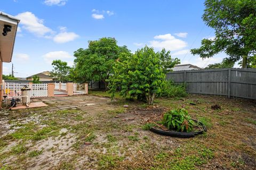
<path id="1" fill-rule="evenodd" d="M 177 62 L 172 60 L 170 52 L 154 52 L 153 48 L 145 46 L 135 54 L 121 54 L 114 65 L 114 73 L 109 78 L 109 92 L 113 98 L 118 88 L 121 89 L 121 96 L 130 95 L 138 100 L 146 100 L 153 105 L 154 98 L 165 84 L 165 71 L 167 67 Z M 162 57 L 168 61 L 163 67 Z M 171 68 L 170 68 L 171 69 Z"/>

